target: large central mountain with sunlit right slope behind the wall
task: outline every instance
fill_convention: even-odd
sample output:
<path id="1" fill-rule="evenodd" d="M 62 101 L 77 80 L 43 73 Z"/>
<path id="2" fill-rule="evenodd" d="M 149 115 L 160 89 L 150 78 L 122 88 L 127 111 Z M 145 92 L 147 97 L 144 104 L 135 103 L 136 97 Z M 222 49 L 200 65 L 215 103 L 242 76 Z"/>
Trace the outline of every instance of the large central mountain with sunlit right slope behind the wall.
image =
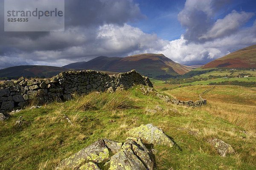
<path id="1" fill-rule="evenodd" d="M 91 69 L 111 72 L 126 72 L 135 69 L 153 78 L 169 78 L 185 74 L 192 67 L 181 65 L 163 54 L 138 54 L 128 57 L 96 57 L 88 62 L 75 62 L 63 68 Z"/>

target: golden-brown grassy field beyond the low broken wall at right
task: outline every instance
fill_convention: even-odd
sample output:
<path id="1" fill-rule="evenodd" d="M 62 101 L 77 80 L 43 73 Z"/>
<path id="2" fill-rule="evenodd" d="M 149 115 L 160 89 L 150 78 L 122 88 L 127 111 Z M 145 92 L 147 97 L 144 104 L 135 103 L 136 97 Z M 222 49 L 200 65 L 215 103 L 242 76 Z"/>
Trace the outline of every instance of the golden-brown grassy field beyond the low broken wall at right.
<path id="1" fill-rule="evenodd" d="M 244 127 L 256 133 L 256 88 L 245 88 L 233 85 L 189 86 L 165 91 L 165 93 L 182 100 L 198 100 L 199 94 L 207 99 L 204 111 L 221 117 L 230 123 Z"/>

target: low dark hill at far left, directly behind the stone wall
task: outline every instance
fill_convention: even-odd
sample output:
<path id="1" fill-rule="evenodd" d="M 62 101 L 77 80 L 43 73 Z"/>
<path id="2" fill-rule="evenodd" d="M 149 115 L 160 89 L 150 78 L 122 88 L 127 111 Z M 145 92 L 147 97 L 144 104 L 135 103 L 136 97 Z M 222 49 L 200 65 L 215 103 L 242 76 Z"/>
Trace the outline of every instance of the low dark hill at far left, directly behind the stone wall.
<path id="1" fill-rule="evenodd" d="M 0 70 L 0 77 L 17 79 L 23 77 L 53 77 L 62 71 L 69 71 L 68 68 L 53 67 L 47 65 L 20 65 Z"/>

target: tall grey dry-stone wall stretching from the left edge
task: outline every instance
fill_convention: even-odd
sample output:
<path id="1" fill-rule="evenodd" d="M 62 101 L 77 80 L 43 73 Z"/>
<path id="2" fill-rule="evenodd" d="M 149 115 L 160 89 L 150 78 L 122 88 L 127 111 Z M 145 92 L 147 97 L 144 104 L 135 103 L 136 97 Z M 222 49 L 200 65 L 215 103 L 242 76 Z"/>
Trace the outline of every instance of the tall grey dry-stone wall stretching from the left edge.
<path id="1" fill-rule="evenodd" d="M 70 100 L 72 94 L 91 91 L 115 91 L 142 84 L 153 87 L 148 77 L 135 70 L 110 76 L 99 71 L 61 72 L 51 79 L 24 79 L 5 81 L 0 84 L 0 113 L 22 108 L 32 100 L 47 103 L 56 98 Z"/>

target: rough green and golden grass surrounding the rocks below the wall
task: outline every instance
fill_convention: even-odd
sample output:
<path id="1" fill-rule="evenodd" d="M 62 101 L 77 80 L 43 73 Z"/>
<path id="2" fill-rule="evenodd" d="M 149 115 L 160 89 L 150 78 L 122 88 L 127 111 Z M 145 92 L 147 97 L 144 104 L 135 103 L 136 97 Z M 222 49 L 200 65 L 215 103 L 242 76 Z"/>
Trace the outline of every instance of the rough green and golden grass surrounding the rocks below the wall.
<path id="1" fill-rule="evenodd" d="M 193 88 L 193 89 L 189 89 Z M 173 96 L 196 96 L 209 86 L 194 86 L 167 91 Z M 236 88 L 236 87 L 234 87 Z M 132 127 L 152 123 L 171 136 L 177 145 L 174 147 L 154 146 L 156 170 L 254 170 L 256 169 L 256 136 L 253 127 L 241 122 L 232 122 L 226 113 L 212 113 L 215 108 L 216 94 L 226 101 L 231 90 L 230 100 L 240 93 L 243 99 L 253 101 L 256 89 L 241 88 L 236 92 L 233 87 L 224 87 L 224 92 L 216 88 L 204 94 L 209 96 L 209 105 L 202 108 L 185 108 L 163 102 L 155 95 L 143 95 L 140 87 L 113 94 L 92 93 L 76 97 L 68 102 L 54 102 L 38 109 L 25 109 L 15 113 L 6 122 L 0 122 L 0 169 L 3 170 L 51 170 L 68 156 L 76 153 L 92 142 L 108 138 L 124 142 L 125 133 Z M 166 93 L 167 93 L 166 92 Z M 223 96 L 223 97 L 222 97 Z M 217 95 L 218 97 L 218 95 Z M 222 109 L 235 103 L 221 101 Z M 254 100 L 255 101 L 255 100 Z M 244 103 L 246 104 L 246 102 Z M 255 106 L 240 105 L 247 109 L 251 119 L 255 117 Z M 163 108 L 157 113 L 145 110 Z M 251 107 L 251 111 L 248 110 Z M 233 109 L 236 115 L 237 108 Z M 227 108 L 225 111 L 229 111 Z M 241 110 L 239 110 L 241 111 Z M 249 113 L 250 112 L 250 113 Z M 224 114 L 224 115 L 222 115 Z M 68 116 L 73 125 L 67 122 Z M 15 122 L 23 116 L 26 120 L 21 127 Z M 249 120 L 250 121 L 250 120 Z M 246 130 L 247 133 L 243 131 Z M 189 132 L 196 132 L 192 135 Z M 206 141 L 217 137 L 231 144 L 236 154 L 219 156 Z"/>

